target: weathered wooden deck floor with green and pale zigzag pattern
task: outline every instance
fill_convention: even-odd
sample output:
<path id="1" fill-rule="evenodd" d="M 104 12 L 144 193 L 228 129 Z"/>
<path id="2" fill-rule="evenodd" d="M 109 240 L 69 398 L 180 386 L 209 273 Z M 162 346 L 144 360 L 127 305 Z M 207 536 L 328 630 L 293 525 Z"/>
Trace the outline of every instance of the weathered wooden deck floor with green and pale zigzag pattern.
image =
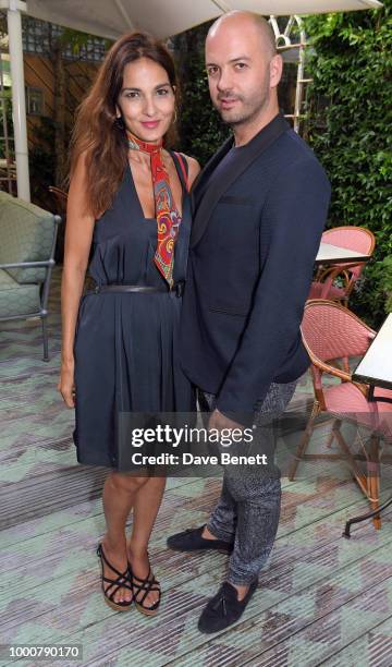
<path id="1" fill-rule="evenodd" d="M 37 323 L 0 331 L 0 643 L 79 644 L 88 666 L 392 665 L 392 511 L 342 538 L 344 521 L 367 509 L 340 463 L 303 463 L 282 480 L 281 522 L 259 590 L 233 628 L 197 631 L 226 557 L 166 548 L 173 532 L 205 522 L 220 480 L 169 480 L 151 542 L 164 597 L 158 617 L 111 611 L 99 590 L 97 539 L 103 533 L 105 471 L 75 463 L 73 414 L 56 391 L 60 328 L 58 281 L 50 317 L 51 361 L 41 361 Z M 309 395 L 306 383 L 296 400 Z M 322 449 L 326 427 L 313 438 Z M 392 487 L 384 471 L 383 494 Z M 0 660 L 0 665 L 38 662 Z"/>

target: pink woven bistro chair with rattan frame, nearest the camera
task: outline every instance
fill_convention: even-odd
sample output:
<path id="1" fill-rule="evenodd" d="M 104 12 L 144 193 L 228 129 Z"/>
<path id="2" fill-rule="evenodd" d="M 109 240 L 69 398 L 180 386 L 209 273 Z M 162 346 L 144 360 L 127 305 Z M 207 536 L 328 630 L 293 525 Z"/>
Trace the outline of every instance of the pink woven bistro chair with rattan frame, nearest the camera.
<path id="1" fill-rule="evenodd" d="M 347 308 L 324 300 L 306 303 L 301 330 L 311 360 L 315 402 L 289 478 L 294 480 L 302 459 L 344 459 L 351 465 L 354 478 L 368 498 L 371 509 L 378 510 L 380 507 L 379 444 L 380 439 L 392 444 L 392 402 L 368 401 L 368 386 L 352 380 L 348 365 L 350 357 L 365 354 L 376 332 Z M 326 386 L 322 383 L 323 374 L 338 377 L 341 383 Z M 375 397 L 392 399 L 392 391 L 376 388 Z M 328 412 L 334 417 L 327 447 L 330 447 L 335 438 L 342 454 L 305 453 L 315 428 L 315 420 L 322 412 Z M 341 433 L 344 420 L 354 421 L 369 429 L 369 451 L 363 448 L 364 454 L 352 453 Z M 366 460 L 366 474 L 358 468 L 357 460 Z M 372 520 L 375 527 L 381 527 L 379 516 L 376 514 Z"/>

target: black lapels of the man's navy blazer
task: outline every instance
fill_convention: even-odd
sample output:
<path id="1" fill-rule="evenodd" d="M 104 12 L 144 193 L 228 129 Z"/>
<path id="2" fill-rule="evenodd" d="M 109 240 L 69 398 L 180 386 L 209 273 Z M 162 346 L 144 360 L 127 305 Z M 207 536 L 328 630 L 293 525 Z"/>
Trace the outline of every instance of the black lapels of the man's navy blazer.
<path id="1" fill-rule="evenodd" d="M 235 163 L 222 171 L 217 179 L 208 182 L 211 172 L 229 151 L 232 138 L 224 142 L 218 153 L 209 160 L 199 175 L 195 186 L 194 222 L 191 233 L 191 246 L 195 246 L 206 232 L 211 214 L 221 196 L 236 179 L 264 153 L 283 132 L 290 129 L 283 116 L 278 114 L 268 125 L 242 148 Z"/>

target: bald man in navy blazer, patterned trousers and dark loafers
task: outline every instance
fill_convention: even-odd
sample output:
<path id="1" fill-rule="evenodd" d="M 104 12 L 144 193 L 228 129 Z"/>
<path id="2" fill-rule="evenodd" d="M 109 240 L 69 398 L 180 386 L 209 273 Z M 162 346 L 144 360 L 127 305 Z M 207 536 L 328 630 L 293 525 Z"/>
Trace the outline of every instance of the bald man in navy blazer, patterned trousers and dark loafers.
<path id="1" fill-rule="evenodd" d="M 220 17 L 207 36 L 206 66 L 212 102 L 234 136 L 194 191 L 181 359 L 212 410 L 209 427 L 222 429 L 281 414 L 309 365 L 299 325 L 330 186 L 279 113 L 282 59 L 262 17 L 240 11 Z M 258 475 L 229 468 L 208 524 L 169 538 L 177 550 L 232 551 L 200 631 L 222 630 L 243 614 L 279 511 L 273 466 Z"/>

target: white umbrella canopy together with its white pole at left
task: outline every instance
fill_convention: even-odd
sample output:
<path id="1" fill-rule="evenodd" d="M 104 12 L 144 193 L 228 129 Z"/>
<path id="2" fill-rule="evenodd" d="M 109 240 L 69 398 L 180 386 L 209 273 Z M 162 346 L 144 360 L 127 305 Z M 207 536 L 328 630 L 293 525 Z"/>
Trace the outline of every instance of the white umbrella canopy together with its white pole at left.
<path id="1" fill-rule="evenodd" d="M 8 10 L 19 196 L 29 201 L 21 12 L 102 37 L 143 29 L 162 38 L 232 9 L 287 16 L 379 7 L 378 0 L 0 0 Z"/>

